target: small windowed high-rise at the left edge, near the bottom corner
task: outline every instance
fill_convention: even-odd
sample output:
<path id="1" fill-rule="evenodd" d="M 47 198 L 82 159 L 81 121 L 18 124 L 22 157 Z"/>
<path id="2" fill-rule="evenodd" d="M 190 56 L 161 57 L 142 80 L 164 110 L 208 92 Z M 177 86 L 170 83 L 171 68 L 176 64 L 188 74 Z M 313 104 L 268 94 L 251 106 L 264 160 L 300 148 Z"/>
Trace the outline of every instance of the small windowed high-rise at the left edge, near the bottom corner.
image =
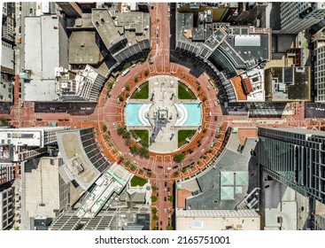
<path id="1" fill-rule="evenodd" d="M 0 186 L 0 230 L 10 229 L 14 221 L 15 187 Z"/>

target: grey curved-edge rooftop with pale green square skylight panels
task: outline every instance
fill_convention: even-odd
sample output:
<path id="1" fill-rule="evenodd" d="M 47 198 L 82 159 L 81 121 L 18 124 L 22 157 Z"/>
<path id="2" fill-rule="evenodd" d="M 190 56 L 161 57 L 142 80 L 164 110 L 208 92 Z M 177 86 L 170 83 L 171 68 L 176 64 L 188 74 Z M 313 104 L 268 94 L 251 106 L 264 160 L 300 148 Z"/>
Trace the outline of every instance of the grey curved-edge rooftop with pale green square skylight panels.
<path id="1" fill-rule="evenodd" d="M 241 178 L 250 178 L 248 176 L 248 161 L 251 158 L 250 151 L 256 143 L 255 139 L 250 139 L 249 142 L 244 143 L 244 150 L 241 153 L 237 151 L 239 144 L 241 143 L 237 134 L 231 134 L 227 149 L 221 159 L 205 174 L 197 177 L 201 191 L 186 198 L 186 209 L 235 209 L 236 205 L 244 198 L 248 190 L 248 183 L 242 183 L 244 181 Z M 234 179 L 232 185 L 224 182 L 227 175 Z"/>

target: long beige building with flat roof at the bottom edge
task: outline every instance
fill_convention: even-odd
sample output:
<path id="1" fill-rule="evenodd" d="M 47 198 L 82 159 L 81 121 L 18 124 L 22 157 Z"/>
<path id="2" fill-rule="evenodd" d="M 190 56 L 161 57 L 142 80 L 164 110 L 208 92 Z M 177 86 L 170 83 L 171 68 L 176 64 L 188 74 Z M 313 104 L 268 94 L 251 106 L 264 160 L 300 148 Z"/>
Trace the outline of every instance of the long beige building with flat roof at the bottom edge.
<path id="1" fill-rule="evenodd" d="M 176 230 L 259 230 L 255 210 L 176 211 Z"/>

